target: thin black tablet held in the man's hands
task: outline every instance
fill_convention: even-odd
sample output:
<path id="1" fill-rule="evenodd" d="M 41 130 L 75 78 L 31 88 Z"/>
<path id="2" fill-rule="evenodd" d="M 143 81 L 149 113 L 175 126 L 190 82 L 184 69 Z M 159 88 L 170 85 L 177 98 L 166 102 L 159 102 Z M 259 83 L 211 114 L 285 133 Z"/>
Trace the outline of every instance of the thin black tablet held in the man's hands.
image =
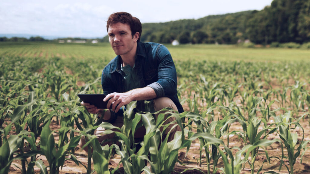
<path id="1" fill-rule="evenodd" d="M 104 94 L 78 94 L 78 97 L 81 98 L 84 103 L 95 105 L 98 109 L 107 108 L 108 101 L 103 101 L 105 98 Z"/>

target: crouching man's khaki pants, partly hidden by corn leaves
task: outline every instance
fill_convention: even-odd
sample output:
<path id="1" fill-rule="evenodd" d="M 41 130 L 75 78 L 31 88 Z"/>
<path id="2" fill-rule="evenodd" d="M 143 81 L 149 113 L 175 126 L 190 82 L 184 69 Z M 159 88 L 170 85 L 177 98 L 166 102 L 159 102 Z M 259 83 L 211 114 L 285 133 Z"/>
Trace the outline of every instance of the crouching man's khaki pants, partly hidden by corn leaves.
<path id="1" fill-rule="evenodd" d="M 170 98 L 168 98 L 168 97 L 156 98 L 156 99 L 153 100 L 153 102 L 154 102 L 154 110 L 155 110 L 155 111 L 160 111 L 160 110 L 162 110 L 162 109 L 165 108 L 165 107 L 170 107 L 170 108 L 172 108 L 172 109 L 175 110 L 175 111 L 178 110 L 177 107 L 175 106 L 174 102 L 172 102 L 172 100 L 171 100 Z M 108 111 L 105 112 L 105 113 L 106 113 L 106 114 L 110 114 L 110 112 L 108 112 Z M 155 116 L 157 117 L 158 115 L 156 114 Z M 166 119 L 167 116 L 168 116 L 168 115 L 165 115 L 165 119 Z M 157 119 L 157 118 L 156 118 L 156 119 Z M 175 120 L 174 117 L 170 117 L 168 120 L 165 121 L 164 125 L 165 125 L 165 124 L 168 124 L 168 123 L 170 123 L 170 122 L 172 122 L 172 121 L 174 121 L 174 120 Z M 121 128 L 123 124 L 124 124 L 123 118 L 120 117 L 120 116 L 118 116 L 117 119 L 115 120 L 115 122 L 113 123 L 113 126 L 116 126 L 116 127 Z M 177 124 L 177 123 L 175 123 L 175 124 Z M 167 133 L 170 131 L 170 129 L 171 129 L 175 124 L 170 124 L 170 125 L 168 126 L 168 128 L 166 128 L 165 134 L 167 134 Z M 111 146 L 113 143 L 118 144 L 117 142 L 107 141 L 107 140 L 113 140 L 113 137 L 114 137 L 115 133 L 103 134 L 104 130 L 105 130 L 104 128 L 99 127 L 99 128 L 97 128 L 97 129 L 95 130 L 95 133 L 94 133 L 94 135 L 96 135 L 96 136 L 98 137 L 98 140 L 99 140 L 100 143 L 103 142 L 103 141 L 105 141 L 105 142 L 102 144 L 102 146 L 105 146 L 105 145 L 107 145 L 107 144 L 108 144 L 109 146 Z M 113 131 L 118 131 L 117 129 L 112 129 L 112 130 L 113 130 Z M 163 130 L 163 128 L 161 127 L 161 128 L 160 128 L 160 131 L 162 131 L 162 130 Z M 180 128 L 179 126 L 175 126 L 175 127 L 173 128 L 173 130 L 171 130 L 171 132 L 170 132 L 170 134 L 169 134 L 169 137 L 168 137 L 168 142 L 171 141 L 171 140 L 173 140 L 173 137 L 174 137 L 176 131 L 181 131 L 181 128 Z M 135 139 L 143 139 L 145 133 L 146 133 L 145 127 L 142 126 L 142 127 L 138 128 L 138 129 L 136 130 L 135 136 L 134 136 L 134 137 L 135 137 Z M 165 134 L 164 134 L 164 135 L 165 135 Z M 84 146 L 85 143 L 86 143 L 86 142 L 85 142 L 85 137 L 82 136 L 81 141 L 80 141 L 80 147 Z M 85 147 L 84 150 L 87 151 L 87 147 Z"/>

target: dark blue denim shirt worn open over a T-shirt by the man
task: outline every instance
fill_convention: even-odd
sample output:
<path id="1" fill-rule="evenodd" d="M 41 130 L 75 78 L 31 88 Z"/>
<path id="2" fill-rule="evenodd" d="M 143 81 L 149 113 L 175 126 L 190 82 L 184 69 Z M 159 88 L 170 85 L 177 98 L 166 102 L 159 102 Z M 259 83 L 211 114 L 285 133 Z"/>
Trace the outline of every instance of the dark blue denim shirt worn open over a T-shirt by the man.
<path id="1" fill-rule="evenodd" d="M 179 113 L 184 112 L 177 95 L 175 64 L 165 46 L 152 42 L 137 42 L 135 66 L 140 88 L 153 88 L 156 98 L 168 97 L 175 103 Z M 101 85 L 105 95 L 127 92 L 122 73 L 121 56 L 117 55 L 102 71 Z"/>

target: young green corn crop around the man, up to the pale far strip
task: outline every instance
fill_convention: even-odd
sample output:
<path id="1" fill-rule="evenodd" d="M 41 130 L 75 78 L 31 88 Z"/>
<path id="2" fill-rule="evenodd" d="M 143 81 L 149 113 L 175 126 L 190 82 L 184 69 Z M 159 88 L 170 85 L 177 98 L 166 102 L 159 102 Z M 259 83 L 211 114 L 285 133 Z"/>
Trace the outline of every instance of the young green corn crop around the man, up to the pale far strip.
<path id="1" fill-rule="evenodd" d="M 9 172 L 18 159 L 22 173 L 33 173 L 35 165 L 43 173 L 47 169 L 58 173 L 69 159 L 84 165 L 74 156 L 82 135 L 85 146 L 93 149 L 84 165 L 87 173 L 91 168 L 97 173 L 116 172 L 119 166 L 108 166 L 114 153 L 121 156 L 126 173 L 150 172 L 146 161 L 153 173 L 169 173 L 177 162 L 182 163 L 179 150 L 185 148 L 188 153 L 196 141 L 199 163 L 205 161 L 207 173 L 240 173 L 245 164 L 252 173 L 259 173 L 264 168 L 255 165 L 255 159 L 263 155 L 266 161 L 278 160 L 279 171 L 284 166 L 293 174 L 296 160 L 301 157 L 302 162 L 307 152 L 303 126 L 309 125 L 304 124 L 310 106 L 309 62 L 176 61 L 178 95 L 186 112 L 165 109 L 154 120 L 156 113 L 134 113 L 136 103 L 132 102 L 124 114 L 124 126 L 112 131 L 115 127 L 89 114 L 77 97 L 78 93 L 102 93 L 100 75 L 107 60 L 7 54 L 0 59 L 0 173 Z M 170 142 L 159 131 L 166 114 L 182 128 Z M 59 128 L 51 130 L 52 120 Z M 147 133 L 143 140 L 134 141 L 133 134 L 142 125 Z M 234 130 L 232 125 L 241 129 Z M 100 146 L 94 135 L 98 127 L 107 129 L 105 133 L 115 132 L 113 141 L 120 146 Z M 242 145 L 231 146 L 229 135 L 240 137 Z M 271 157 L 267 149 L 275 143 L 281 144 L 282 153 Z M 264 154 L 259 153 L 261 149 Z M 38 159 L 40 155 L 47 162 Z M 196 170 L 203 172 L 199 167 Z"/>

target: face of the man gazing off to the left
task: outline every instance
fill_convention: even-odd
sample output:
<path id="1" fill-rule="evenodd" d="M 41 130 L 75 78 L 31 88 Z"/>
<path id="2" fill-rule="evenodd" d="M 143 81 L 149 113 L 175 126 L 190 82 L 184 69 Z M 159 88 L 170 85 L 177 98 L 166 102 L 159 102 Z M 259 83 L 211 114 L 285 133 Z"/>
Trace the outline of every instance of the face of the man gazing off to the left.
<path id="1" fill-rule="evenodd" d="M 139 33 L 137 32 L 132 36 L 130 26 L 118 22 L 109 26 L 108 36 L 115 54 L 126 55 L 133 53 L 133 48 L 138 40 Z"/>

